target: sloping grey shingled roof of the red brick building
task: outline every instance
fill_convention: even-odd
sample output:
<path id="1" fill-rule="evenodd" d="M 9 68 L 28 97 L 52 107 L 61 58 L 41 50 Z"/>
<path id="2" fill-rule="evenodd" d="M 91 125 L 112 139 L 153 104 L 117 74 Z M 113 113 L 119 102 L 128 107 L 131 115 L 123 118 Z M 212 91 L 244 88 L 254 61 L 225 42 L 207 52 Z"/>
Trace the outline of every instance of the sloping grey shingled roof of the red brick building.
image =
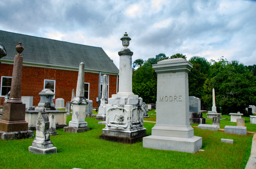
<path id="1" fill-rule="evenodd" d="M 15 46 L 22 42 L 23 62 L 79 67 L 85 69 L 119 73 L 118 68 L 101 47 L 87 46 L 46 38 L 38 38 L 0 30 L 0 42 L 4 45 L 7 56 L 3 60 L 14 60 L 17 54 Z"/>

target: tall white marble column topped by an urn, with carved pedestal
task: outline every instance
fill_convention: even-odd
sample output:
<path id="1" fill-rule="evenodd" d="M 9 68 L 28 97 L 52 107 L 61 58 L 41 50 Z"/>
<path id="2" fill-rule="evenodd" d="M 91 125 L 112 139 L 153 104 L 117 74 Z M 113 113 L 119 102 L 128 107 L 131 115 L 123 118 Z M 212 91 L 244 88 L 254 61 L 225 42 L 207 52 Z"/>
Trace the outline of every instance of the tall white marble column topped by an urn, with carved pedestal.
<path id="1" fill-rule="evenodd" d="M 121 38 L 124 48 L 118 52 L 120 56 L 119 92 L 108 99 L 106 105 L 106 127 L 102 129 L 100 139 L 134 143 L 146 135 L 143 127 L 142 99 L 132 92 L 132 55 L 128 34 Z"/>

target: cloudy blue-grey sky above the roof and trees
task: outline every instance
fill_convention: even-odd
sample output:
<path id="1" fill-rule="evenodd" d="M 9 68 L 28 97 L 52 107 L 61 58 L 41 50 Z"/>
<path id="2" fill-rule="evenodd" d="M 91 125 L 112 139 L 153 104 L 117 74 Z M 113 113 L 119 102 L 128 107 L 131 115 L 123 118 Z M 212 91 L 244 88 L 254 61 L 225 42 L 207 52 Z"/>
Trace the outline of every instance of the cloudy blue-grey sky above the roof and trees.
<path id="1" fill-rule="evenodd" d="M 124 32 L 133 61 L 183 53 L 256 64 L 256 1 L 0 0 L 0 16 L 0 30 L 99 46 L 117 67 Z"/>

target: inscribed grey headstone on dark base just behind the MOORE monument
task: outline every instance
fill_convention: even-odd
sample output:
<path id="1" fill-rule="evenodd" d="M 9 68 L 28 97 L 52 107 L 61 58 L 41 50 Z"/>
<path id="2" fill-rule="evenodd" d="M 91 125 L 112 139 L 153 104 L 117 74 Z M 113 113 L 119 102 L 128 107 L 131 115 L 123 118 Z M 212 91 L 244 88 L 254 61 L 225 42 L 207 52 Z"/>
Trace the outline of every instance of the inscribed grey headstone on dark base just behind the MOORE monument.
<path id="1" fill-rule="evenodd" d="M 201 112 L 201 99 L 194 96 L 189 96 L 189 122 L 193 124 L 205 124 L 206 122 Z"/>

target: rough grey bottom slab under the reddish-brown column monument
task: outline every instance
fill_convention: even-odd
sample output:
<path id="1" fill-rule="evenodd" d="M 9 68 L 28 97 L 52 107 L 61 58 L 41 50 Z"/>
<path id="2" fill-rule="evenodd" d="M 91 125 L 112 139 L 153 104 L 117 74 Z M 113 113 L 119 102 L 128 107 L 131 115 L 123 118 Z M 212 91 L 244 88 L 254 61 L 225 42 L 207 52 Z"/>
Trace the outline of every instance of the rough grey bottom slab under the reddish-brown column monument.
<path id="1" fill-rule="evenodd" d="M 34 137 L 34 131 L 31 130 L 12 132 L 0 131 L 0 138 L 2 140 L 27 139 L 32 137 Z"/>

